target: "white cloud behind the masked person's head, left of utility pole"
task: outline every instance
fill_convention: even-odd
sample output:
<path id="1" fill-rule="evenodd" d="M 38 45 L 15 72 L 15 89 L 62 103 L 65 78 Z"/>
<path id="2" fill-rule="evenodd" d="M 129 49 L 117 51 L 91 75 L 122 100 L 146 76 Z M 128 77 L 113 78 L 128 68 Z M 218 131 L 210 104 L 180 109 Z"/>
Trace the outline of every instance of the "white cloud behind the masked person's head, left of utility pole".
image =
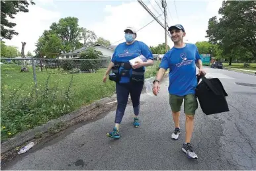
<path id="1" fill-rule="evenodd" d="M 133 26 L 136 30 L 139 30 L 153 20 L 137 1 L 125 2 L 115 7 L 106 5 L 105 12 L 107 16 L 103 22 L 92 24 L 89 29 L 112 43 L 124 38 L 124 28 L 126 26 Z M 153 21 L 138 31 L 137 40 L 148 45 L 157 45 L 164 41 L 164 30 L 156 21 Z M 124 40 L 120 42 L 124 42 Z"/>

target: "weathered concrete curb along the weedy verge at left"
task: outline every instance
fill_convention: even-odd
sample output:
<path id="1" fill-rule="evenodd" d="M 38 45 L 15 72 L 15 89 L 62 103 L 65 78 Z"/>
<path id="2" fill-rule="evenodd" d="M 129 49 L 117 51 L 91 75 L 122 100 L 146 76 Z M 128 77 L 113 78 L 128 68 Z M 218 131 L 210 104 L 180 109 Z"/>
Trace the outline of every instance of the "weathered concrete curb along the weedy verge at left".
<path id="1" fill-rule="evenodd" d="M 97 100 L 96 102 L 93 102 L 92 104 L 89 104 L 88 106 L 83 106 L 79 108 L 78 110 L 75 110 L 69 114 L 65 114 L 64 116 L 61 116 L 60 118 L 50 120 L 47 123 L 44 123 L 44 125 L 40 125 L 38 127 L 35 127 L 34 129 L 29 129 L 27 131 L 24 131 L 15 137 L 3 142 L 1 144 L 1 154 L 6 153 L 7 151 L 10 151 L 14 149 L 15 147 L 19 147 L 20 145 L 26 143 L 27 141 L 30 141 L 36 137 L 38 133 L 46 133 L 50 127 L 53 127 L 56 125 L 56 123 L 60 122 L 67 122 L 70 120 L 73 120 L 82 114 L 85 114 L 86 112 L 89 112 L 90 110 L 93 110 L 95 108 L 98 108 L 99 106 L 105 105 L 107 102 L 113 102 L 116 100 L 116 94 L 111 96 L 110 98 L 103 98 L 101 100 Z"/>

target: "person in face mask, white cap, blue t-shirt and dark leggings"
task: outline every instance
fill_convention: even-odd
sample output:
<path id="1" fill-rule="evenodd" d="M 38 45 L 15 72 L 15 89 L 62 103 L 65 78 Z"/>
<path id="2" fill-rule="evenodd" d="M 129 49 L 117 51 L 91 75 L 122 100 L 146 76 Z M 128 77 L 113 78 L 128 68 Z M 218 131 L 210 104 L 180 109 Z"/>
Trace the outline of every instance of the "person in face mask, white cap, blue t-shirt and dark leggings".
<path id="1" fill-rule="evenodd" d="M 113 131 L 107 133 L 108 137 L 118 139 L 119 125 L 124 116 L 128 96 L 130 93 L 132 106 L 134 108 L 134 127 L 140 126 L 138 115 L 140 112 L 140 94 L 144 85 L 144 72 L 145 67 L 153 64 L 153 54 L 148 46 L 143 42 L 135 40 L 137 37 L 136 30 L 132 27 L 127 27 L 124 30 L 124 37 L 126 42 L 118 44 L 112 55 L 108 69 L 103 77 L 103 82 L 107 81 L 108 73 L 111 69 L 116 69 L 116 96 L 117 96 L 117 109 L 115 126 Z M 129 60 L 134 59 L 140 55 L 146 57 L 146 61 L 136 61 L 134 65 L 130 65 Z"/>

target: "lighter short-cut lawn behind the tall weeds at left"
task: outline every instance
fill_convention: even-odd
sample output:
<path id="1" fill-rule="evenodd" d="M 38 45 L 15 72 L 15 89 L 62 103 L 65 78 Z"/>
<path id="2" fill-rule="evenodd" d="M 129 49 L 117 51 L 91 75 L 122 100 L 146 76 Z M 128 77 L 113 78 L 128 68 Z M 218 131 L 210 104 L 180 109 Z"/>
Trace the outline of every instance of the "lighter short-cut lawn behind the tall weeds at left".
<path id="1" fill-rule="evenodd" d="M 21 73 L 21 67 L 17 65 L 1 67 L 1 87 L 8 91 L 12 91 L 15 88 L 22 86 L 23 94 L 31 92 L 31 88 L 34 86 L 34 78 L 32 68 L 28 73 Z M 73 75 L 73 83 L 71 85 L 71 92 L 74 93 L 74 105 L 75 108 L 89 104 L 94 100 L 110 96 L 114 92 L 114 83 L 107 81 L 103 83 L 103 75 L 105 69 L 99 69 L 96 73 L 79 73 Z M 43 87 L 46 83 L 47 77 L 50 75 L 49 85 L 53 87 L 58 84 L 60 89 L 68 87 L 71 80 L 71 74 L 67 71 L 58 71 L 58 69 L 45 69 L 43 72 L 36 68 L 36 79 L 38 88 Z"/>

